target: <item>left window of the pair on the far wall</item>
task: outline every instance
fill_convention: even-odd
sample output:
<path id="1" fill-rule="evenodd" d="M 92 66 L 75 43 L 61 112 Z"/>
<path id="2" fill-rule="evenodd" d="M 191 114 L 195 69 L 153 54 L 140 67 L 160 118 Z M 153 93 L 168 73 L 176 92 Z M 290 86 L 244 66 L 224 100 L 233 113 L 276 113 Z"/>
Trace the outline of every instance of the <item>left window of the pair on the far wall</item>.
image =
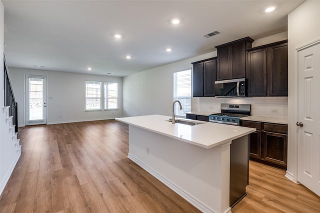
<path id="1" fill-rule="evenodd" d="M 101 109 L 101 82 L 85 81 L 85 109 Z"/>

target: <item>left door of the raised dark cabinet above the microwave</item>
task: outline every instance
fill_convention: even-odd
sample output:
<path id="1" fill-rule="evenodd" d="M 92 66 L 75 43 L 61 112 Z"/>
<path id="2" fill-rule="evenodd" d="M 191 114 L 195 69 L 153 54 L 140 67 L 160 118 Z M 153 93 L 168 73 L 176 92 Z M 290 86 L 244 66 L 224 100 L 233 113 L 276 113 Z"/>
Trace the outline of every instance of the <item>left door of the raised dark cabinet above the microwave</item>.
<path id="1" fill-rule="evenodd" d="M 216 79 L 230 79 L 229 46 L 218 48 L 217 56 Z"/>

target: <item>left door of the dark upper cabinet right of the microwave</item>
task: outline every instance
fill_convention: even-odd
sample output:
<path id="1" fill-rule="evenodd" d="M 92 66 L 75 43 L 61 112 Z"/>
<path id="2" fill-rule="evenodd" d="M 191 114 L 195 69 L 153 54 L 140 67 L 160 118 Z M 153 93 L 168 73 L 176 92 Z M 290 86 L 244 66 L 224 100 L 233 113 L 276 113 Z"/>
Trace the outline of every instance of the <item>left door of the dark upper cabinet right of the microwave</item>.
<path id="1" fill-rule="evenodd" d="M 266 48 L 248 51 L 246 77 L 248 96 L 266 96 Z"/>

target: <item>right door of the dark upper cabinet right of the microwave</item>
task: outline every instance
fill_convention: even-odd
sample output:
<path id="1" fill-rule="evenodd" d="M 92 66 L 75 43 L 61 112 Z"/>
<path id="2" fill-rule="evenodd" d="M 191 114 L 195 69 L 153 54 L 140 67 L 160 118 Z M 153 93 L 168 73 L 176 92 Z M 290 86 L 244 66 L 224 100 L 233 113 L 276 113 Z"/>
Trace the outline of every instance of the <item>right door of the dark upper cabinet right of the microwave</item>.
<path id="1" fill-rule="evenodd" d="M 268 95 L 288 95 L 287 43 L 267 47 Z"/>

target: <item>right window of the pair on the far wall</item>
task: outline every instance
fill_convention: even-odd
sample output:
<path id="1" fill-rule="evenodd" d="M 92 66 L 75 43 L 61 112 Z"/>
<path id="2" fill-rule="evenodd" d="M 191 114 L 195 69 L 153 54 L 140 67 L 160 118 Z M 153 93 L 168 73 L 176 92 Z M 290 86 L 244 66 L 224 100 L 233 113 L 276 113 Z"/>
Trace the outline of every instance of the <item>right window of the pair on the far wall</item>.
<path id="1" fill-rule="evenodd" d="M 118 108 L 118 83 L 104 83 L 104 109 Z"/>

